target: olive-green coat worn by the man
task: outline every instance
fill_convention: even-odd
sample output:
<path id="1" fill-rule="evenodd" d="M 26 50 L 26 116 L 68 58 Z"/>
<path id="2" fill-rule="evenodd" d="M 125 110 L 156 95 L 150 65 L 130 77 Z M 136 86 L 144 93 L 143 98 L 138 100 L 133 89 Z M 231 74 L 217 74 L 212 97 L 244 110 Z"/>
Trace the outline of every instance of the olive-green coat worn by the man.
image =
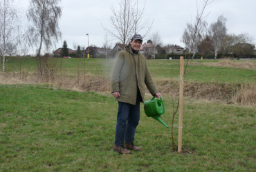
<path id="1" fill-rule="evenodd" d="M 144 103 L 145 85 L 152 96 L 158 93 L 145 57 L 140 52 L 134 54 L 131 45 L 128 45 L 116 54 L 111 74 L 111 93 L 119 92 L 120 97 L 115 100 L 135 105 L 139 89 L 143 99 L 141 102 Z"/>

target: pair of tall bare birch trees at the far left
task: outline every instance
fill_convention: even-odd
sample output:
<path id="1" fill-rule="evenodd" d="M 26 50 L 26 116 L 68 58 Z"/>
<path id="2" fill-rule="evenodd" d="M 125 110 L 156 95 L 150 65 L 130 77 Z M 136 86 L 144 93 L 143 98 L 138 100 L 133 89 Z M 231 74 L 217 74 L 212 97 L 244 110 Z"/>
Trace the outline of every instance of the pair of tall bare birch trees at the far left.
<path id="1" fill-rule="evenodd" d="M 6 54 L 24 56 L 31 48 L 35 48 L 37 56 L 40 56 L 43 46 L 45 50 L 49 50 L 60 40 L 60 2 L 61 0 L 30 0 L 26 11 L 29 25 L 24 28 L 19 3 L 14 0 L 0 1 L 0 57 L 3 56 L 3 73 Z"/>

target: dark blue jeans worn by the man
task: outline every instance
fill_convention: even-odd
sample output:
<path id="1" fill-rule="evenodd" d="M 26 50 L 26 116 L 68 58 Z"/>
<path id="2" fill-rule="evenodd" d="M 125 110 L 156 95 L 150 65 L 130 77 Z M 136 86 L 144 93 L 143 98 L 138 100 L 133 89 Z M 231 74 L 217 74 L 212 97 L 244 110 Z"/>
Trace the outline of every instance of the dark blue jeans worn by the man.
<path id="1" fill-rule="evenodd" d="M 118 102 L 118 120 L 116 123 L 115 144 L 123 146 L 125 142 L 134 142 L 134 135 L 140 120 L 140 91 L 138 90 L 136 105 Z"/>

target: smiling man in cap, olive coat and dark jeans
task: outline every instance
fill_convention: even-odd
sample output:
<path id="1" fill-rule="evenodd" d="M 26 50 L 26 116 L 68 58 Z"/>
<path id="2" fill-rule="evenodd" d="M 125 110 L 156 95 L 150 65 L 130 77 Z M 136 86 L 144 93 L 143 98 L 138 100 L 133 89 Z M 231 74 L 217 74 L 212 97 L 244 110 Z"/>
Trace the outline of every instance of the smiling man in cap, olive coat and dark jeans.
<path id="1" fill-rule="evenodd" d="M 140 147 L 134 145 L 134 135 L 140 120 L 140 102 L 144 103 L 145 85 L 152 96 L 161 96 L 152 80 L 145 57 L 139 52 L 142 42 L 140 34 L 134 34 L 125 50 L 116 54 L 112 69 L 111 93 L 118 101 L 113 151 L 119 153 L 131 153 L 127 149 L 141 151 Z"/>

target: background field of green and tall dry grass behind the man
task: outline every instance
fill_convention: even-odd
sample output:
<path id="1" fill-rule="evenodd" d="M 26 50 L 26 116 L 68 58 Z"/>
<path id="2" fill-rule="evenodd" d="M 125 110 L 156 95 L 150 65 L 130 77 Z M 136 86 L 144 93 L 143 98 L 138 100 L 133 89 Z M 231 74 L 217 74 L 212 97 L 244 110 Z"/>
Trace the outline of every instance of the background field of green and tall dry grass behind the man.
<path id="1" fill-rule="evenodd" d="M 179 94 L 179 60 L 147 61 L 159 91 Z M 185 64 L 187 61 L 185 61 Z M 39 69 L 37 65 L 39 64 Z M 48 83 L 62 89 L 109 92 L 113 59 L 10 58 L 1 83 Z M 185 72 L 185 96 L 256 105 L 256 61 L 193 60 Z"/>

